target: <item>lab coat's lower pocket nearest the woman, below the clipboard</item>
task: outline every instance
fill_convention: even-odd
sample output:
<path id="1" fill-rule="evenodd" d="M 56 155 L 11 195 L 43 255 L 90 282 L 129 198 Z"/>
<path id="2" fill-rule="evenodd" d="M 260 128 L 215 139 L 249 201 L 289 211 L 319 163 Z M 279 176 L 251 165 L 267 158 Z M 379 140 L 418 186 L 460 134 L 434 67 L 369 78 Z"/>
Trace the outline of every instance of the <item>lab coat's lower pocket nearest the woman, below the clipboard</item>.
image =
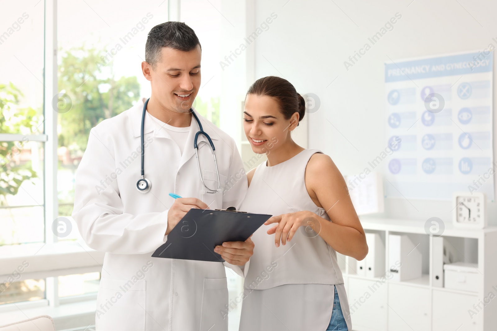
<path id="1" fill-rule="evenodd" d="M 228 283 L 225 278 L 204 278 L 200 331 L 228 330 Z"/>

